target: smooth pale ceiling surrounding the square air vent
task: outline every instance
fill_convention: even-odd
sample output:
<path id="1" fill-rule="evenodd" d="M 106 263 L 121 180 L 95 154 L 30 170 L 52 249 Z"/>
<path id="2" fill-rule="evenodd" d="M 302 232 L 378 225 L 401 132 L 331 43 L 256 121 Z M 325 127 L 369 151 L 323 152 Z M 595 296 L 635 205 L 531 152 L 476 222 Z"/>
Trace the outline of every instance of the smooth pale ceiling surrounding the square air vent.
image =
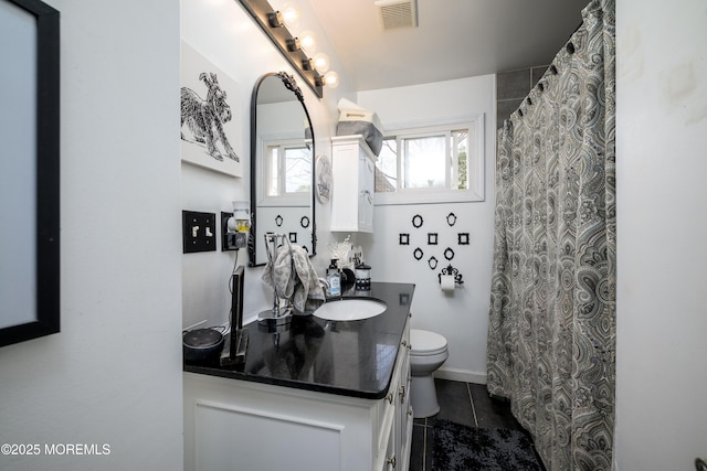
<path id="1" fill-rule="evenodd" d="M 383 31 L 373 0 L 309 0 L 356 90 L 549 64 L 589 0 L 418 0 L 418 28 Z"/>

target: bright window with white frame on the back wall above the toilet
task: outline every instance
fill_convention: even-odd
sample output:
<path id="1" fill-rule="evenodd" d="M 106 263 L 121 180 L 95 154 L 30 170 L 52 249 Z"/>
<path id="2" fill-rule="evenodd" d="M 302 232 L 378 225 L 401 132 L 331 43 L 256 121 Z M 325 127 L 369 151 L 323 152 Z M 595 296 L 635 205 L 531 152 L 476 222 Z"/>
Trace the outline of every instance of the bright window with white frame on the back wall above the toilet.
<path id="1" fill-rule="evenodd" d="M 483 116 L 398 129 L 376 163 L 376 204 L 484 200 Z"/>

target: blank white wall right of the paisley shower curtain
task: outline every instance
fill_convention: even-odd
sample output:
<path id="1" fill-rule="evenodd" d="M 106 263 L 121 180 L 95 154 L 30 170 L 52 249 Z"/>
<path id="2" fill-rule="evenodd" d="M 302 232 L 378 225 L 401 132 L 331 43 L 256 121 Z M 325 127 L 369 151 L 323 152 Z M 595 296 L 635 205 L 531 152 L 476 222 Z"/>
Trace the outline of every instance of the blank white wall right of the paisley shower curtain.
<path id="1" fill-rule="evenodd" d="M 616 2 L 616 469 L 707 459 L 707 7 Z"/>

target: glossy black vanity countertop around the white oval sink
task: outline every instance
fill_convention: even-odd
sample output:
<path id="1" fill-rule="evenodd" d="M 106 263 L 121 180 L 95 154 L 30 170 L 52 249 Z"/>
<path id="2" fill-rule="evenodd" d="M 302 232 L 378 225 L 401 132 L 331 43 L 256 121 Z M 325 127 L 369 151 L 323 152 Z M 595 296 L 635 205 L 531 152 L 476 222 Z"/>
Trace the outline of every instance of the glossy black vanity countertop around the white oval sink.
<path id="1" fill-rule="evenodd" d="M 184 362 L 186 372 L 287 386 L 337 395 L 380 399 L 392 378 L 398 347 L 414 285 L 373 282 L 370 291 L 349 290 L 347 298 L 386 302 L 382 314 L 359 321 L 327 321 L 293 315 L 287 329 L 268 332 L 247 324 L 245 363 L 221 366 Z M 337 302 L 337 301 L 327 301 Z"/>

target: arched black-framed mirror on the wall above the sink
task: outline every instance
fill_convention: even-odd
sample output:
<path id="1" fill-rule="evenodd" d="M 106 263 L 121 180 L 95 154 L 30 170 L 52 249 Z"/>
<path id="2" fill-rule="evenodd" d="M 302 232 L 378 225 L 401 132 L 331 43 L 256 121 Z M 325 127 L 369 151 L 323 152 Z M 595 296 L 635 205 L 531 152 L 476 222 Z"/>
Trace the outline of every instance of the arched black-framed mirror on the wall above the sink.
<path id="1" fill-rule="evenodd" d="M 312 120 L 294 77 L 263 75 L 251 98 L 250 266 L 267 263 L 266 233 L 316 254 L 314 156 Z"/>

